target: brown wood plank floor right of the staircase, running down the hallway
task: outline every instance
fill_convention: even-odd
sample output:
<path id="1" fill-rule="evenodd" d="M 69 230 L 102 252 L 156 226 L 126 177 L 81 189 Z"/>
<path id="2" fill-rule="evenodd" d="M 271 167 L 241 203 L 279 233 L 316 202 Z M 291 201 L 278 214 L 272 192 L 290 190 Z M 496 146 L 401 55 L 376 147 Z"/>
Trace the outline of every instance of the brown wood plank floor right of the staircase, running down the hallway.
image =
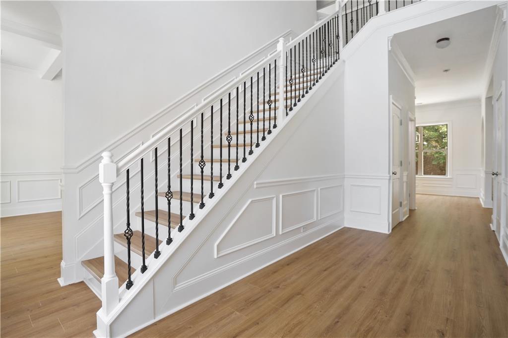
<path id="1" fill-rule="evenodd" d="M 391 235 L 342 229 L 133 336 L 508 336 L 508 268 L 478 198 L 418 195 Z"/>

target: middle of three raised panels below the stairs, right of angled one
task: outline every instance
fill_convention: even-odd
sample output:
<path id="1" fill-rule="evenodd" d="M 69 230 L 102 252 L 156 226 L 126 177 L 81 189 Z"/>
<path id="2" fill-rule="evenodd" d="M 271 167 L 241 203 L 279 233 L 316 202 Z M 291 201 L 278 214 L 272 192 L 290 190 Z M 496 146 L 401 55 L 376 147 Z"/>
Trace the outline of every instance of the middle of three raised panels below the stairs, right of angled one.
<path id="1" fill-rule="evenodd" d="M 280 233 L 316 220 L 316 189 L 280 195 Z"/>

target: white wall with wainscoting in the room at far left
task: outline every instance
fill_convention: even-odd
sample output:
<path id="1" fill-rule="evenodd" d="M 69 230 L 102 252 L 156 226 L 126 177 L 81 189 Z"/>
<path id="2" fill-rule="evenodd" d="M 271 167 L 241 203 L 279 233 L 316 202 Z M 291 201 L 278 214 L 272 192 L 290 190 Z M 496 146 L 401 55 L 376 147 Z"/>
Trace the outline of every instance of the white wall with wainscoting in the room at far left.
<path id="1" fill-rule="evenodd" d="M 2 216 L 61 209 L 62 81 L 2 64 Z"/>

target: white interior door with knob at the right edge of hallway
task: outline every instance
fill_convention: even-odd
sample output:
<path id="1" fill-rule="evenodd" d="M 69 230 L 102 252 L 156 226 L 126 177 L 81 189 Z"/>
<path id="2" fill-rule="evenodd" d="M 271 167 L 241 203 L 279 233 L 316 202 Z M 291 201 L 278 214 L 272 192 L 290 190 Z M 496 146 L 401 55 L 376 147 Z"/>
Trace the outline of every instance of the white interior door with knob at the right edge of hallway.
<path id="1" fill-rule="evenodd" d="M 502 86 L 504 87 L 504 86 Z M 492 166 L 492 190 L 493 211 L 492 229 L 496 232 L 497 240 L 501 240 L 501 215 L 502 210 L 502 177 L 504 163 L 504 88 L 502 88 L 494 101 L 494 165 Z"/>

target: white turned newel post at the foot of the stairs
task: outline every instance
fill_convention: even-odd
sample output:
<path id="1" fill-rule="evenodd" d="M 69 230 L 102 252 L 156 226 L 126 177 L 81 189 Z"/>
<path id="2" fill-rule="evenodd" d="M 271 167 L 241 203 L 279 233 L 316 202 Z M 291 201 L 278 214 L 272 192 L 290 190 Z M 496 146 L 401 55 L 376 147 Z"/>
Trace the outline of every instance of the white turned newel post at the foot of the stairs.
<path id="1" fill-rule="evenodd" d="M 104 277 L 102 284 L 102 311 L 108 315 L 118 304 L 118 277 L 115 274 L 115 251 L 113 244 L 113 183 L 116 181 L 116 164 L 111 153 L 102 153 L 99 164 L 99 181 L 104 195 Z"/>

